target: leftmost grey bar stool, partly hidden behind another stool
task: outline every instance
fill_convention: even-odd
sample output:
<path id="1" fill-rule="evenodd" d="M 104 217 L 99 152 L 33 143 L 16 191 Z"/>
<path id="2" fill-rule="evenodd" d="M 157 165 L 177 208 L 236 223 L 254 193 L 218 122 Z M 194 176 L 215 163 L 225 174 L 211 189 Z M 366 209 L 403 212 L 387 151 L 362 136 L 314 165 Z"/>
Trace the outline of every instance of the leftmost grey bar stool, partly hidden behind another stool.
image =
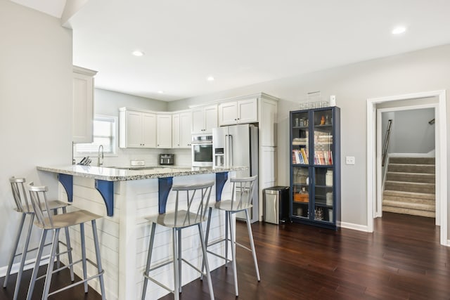
<path id="1" fill-rule="evenodd" d="M 6 287 L 6 285 L 8 284 L 8 279 L 9 279 L 9 276 L 11 275 L 11 268 L 13 267 L 14 259 L 18 256 L 21 256 L 20 265 L 18 268 L 17 280 L 15 282 L 15 289 L 14 289 L 14 298 L 13 299 L 15 300 L 18 298 L 18 292 L 19 292 L 19 288 L 20 288 L 20 282 L 22 280 L 23 268 L 25 267 L 25 261 L 27 260 L 27 253 L 35 251 L 35 250 L 37 250 L 37 248 L 28 249 L 28 246 L 30 244 L 32 228 L 33 228 L 34 211 L 33 211 L 32 207 L 30 207 L 30 204 L 29 204 L 28 198 L 27 198 L 27 193 L 25 191 L 26 180 L 25 180 L 25 178 L 11 177 L 11 178 L 9 178 L 9 182 L 11 183 L 11 190 L 13 192 L 13 199 L 15 202 L 15 211 L 18 211 L 22 214 L 22 217 L 20 219 L 19 228 L 18 228 L 17 234 L 15 235 L 13 251 L 11 252 L 11 257 L 9 259 L 8 268 L 6 270 L 6 277 L 5 277 L 5 281 L 4 281 L 4 285 L 3 285 L 3 287 Z M 65 214 L 67 212 L 66 207 L 68 207 L 69 205 L 70 204 L 62 202 L 62 201 L 53 200 L 53 201 L 49 201 L 48 209 L 53 211 L 54 214 L 58 214 L 58 209 L 62 209 L 63 213 Z M 42 209 L 46 209 L 46 208 L 42 207 Z M 25 224 L 25 219 L 27 216 L 29 216 L 30 224 L 28 226 L 27 235 L 25 236 L 23 252 L 17 253 L 18 244 L 20 242 L 20 237 L 22 235 L 23 226 Z M 58 268 L 60 266 L 60 255 L 61 254 L 67 253 L 69 262 L 72 263 L 72 252 L 71 252 L 72 248 L 70 247 L 70 239 L 69 239 L 69 231 L 68 230 L 65 231 L 65 236 L 66 236 L 65 246 L 67 247 L 67 252 L 60 253 L 59 249 L 58 249 L 58 251 L 57 251 L 58 254 L 56 256 Z M 64 244 L 62 242 L 60 242 L 60 243 Z M 47 245 L 49 245 L 49 244 L 46 244 L 46 246 Z M 74 280 L 74 273 L 73 273 L 72 267 L 70 267 L 70 279 L 72 281 Z"/>

